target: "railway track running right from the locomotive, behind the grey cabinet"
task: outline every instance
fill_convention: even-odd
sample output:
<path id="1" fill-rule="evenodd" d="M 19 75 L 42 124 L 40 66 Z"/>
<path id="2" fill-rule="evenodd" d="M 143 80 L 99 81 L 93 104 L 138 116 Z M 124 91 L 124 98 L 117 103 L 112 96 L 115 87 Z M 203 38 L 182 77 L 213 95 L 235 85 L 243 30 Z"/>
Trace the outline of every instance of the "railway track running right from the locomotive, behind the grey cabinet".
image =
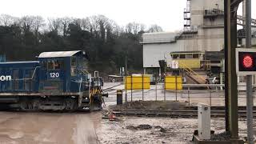
<path id="1" fill-rule="evenodd" d="M 112 109 L 115 115 L 126 116 L 146 116 L 146 117 L 163 117 L 163 118 L 194 118 L 198 117 L 198 110 L 118 110 Z M 211 110 L 211 117 L 225 117 L 225 110 Z M 245 118 L 246 110 L 238 110 L 238 117 Z M 254 110 L 254 118 L 256 111 Z"/>

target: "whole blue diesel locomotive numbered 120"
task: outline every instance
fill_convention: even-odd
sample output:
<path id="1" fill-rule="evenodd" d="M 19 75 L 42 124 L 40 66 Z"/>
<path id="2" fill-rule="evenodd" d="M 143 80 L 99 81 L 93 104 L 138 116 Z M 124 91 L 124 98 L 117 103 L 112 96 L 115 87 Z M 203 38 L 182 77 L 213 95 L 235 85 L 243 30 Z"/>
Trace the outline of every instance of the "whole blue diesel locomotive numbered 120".
<path id="1" fill-rule="evenodd" d="M 85 51 L 39 54 L 38 61 L 0 62 L 0 108 L 93 110 L 101 108 L 102 78 L 87 72 Z"/>

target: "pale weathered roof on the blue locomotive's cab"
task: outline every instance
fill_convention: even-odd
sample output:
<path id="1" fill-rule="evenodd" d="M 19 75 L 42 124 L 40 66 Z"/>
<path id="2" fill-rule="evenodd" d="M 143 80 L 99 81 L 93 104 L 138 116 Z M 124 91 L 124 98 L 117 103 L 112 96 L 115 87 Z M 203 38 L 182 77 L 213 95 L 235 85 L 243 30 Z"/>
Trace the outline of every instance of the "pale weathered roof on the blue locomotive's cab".
<path id="1" fill-rule="evenodd" d="M 82 50 L 43 52 L 39 54 L 38 58 L 72 57 L 74 56 L 74 54 L 78 54 L 78 53 L 82 53 Z"/>

